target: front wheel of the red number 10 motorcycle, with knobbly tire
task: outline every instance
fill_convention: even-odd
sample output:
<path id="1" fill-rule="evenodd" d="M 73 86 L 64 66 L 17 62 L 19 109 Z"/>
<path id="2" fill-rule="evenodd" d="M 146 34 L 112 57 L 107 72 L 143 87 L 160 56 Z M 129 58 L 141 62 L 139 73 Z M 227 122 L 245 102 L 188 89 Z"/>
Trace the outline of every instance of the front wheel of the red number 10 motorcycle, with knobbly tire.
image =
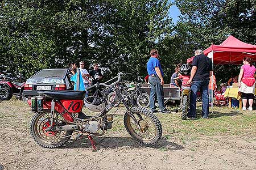
<path id="1" fill-rule="evenodd" d="M 139 125 L 141 125 L 141 129 L 136 128 L 136 125 L 134 124 L 129 113 L 126 112 L 125 117 L 123 118 L 123 122 L 128 133 L 131 135 L 131 137 L 143 145 L 154 145 L 162 137 L 162 125 L 160 124 L 158 118 L 145 108 L 133 107 L 130 111 L 134 113 L 134 116 L 139 122 Z M 141 131 L 142 128 L 146 128 L 146 130 L 143 132 Z M 154 130 L 153 134 L 150 132 L 151 129 Z M 149 139 L 146 139 L 143 137 L 143 135 L 145 136 L 146 133 L 151 133 L 153 136 Z"/>

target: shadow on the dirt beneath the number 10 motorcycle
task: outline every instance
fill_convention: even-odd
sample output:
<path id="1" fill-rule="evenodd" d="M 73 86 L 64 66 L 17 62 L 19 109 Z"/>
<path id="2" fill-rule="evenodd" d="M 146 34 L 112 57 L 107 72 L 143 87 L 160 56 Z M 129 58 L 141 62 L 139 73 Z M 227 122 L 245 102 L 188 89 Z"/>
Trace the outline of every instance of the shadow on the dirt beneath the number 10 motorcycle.
<path id="1" fill-rule="evenodd" d="M 130 137 L 94 137 L 96 142 L 97 150 L 101 148 L 119 148 L 119 147 L 129 147 L 129 148 L 146 148 L 147 146 L 137 143 Z M 71 140 L 67 143 L 64 148 L 90 148 L 90 141 L 87 137 L 82 137 L 79 140 Z M 165 148 L 166 150 L 182 150 L 184 147 L 167 141 L 165 138 L 160 139 L 151 148 Z"/>

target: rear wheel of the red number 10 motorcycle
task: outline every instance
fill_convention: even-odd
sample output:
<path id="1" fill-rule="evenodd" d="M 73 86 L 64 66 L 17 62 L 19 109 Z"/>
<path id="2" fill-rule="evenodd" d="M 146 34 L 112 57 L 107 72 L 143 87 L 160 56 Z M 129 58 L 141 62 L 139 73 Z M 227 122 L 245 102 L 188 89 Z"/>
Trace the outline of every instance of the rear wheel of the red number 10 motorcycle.
<path id="1" fill-rule="evenodd" d="M 36 113 L 31 120 L 30 134 L 32 135 L 35 142 L 38 143 L 39 146 L 46 147 L 46 148 L 58 148 L 65 145 L 65 143 L 69 141 L 73 131 L 56 131 L 55 133 L 44 131 L 43 128 L 46 128 L 46 125 L 49 125 L 50 115 L 51 113 L 49 111 L 46 111 L 43 113 Z M 57 117 L 53 121 L 55 125 L 67 124 L 63 116 L 61 116 L 61 114 L 55 112 L 55 116 Z M 59 116 L 61 120 L 59 120 Z M 39 127 L 38 127 L 38 124 L 39 124 Z M 63 137 L 60 137 L 59 141 L 52 141 L 53 139 L 56 140 L 57 138 L 59 138 L 61 134 L 63 135 Z M 49 137 L 47 135 L 51 135 L 51 136 Z"/>

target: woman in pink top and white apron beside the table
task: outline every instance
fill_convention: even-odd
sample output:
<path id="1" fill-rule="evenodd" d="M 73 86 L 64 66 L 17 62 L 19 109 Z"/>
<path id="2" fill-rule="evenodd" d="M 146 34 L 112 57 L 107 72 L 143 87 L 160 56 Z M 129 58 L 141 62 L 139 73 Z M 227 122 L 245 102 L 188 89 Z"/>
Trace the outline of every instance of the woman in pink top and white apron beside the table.
<path id="1" fill-rule="evenodd" d="M 242 92 L 243 111 L 246 110 L 247 100 L 249 100 L 248 110 L 253 111 L 253 98 L 255 93 L 254 73 L 256 69 L 254 65 L 252 65 L 252 62 L 250 57 L 243 58 L 243 65 L 238 77 L 238 91 Z"/>

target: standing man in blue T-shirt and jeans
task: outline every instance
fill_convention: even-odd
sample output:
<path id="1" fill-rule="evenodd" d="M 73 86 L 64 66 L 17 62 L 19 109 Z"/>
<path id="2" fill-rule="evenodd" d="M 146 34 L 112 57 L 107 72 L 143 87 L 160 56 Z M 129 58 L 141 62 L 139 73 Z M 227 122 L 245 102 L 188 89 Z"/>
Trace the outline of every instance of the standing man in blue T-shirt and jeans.
<path id="1" fill-rule="evenodd" d="M 158 108 L 160 113 L 170 113 L 164 107 L 164 92 L 163 92 L 163 70 L 159 62 L 158 50 L 152 49 L 150 59 L 147 61 L 147 73 L 149 75 L 148 83 L 150 84 L 150 109 L 151 112 L 156 112 L 155 97 L 158 99 Z"/>

